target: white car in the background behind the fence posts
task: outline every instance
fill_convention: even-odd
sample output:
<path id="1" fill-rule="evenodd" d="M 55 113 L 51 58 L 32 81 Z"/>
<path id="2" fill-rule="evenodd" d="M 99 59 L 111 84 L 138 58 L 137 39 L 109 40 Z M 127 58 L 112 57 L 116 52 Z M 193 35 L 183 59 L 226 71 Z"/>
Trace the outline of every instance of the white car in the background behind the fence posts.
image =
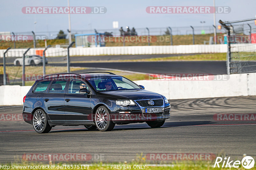
<path id="1" fill-rule="evenodd" d="M 48 60 L 45 59 L 45 64 L 48 63 Z M 22 66 L 23 59 L 17 58 L 13 61 L 14 66 Z M 43 64 L 43 57 L 40 55 L 28 55 L 25 56 L 25 66 L 36 66 L 36 65 L 42 65 Z"/>

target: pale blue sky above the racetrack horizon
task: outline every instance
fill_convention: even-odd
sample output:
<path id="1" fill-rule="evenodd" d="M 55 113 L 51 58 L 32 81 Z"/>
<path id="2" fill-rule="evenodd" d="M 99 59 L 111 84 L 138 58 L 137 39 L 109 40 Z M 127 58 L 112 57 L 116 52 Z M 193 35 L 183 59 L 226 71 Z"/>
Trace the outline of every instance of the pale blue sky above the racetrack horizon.
<path id="1" fill-rule="evenodd" d="M 68 0 L 8 0 L 1 1 L 1 27 L 0 32 L 28 32 L 58 31 L 68 29 L 68 14 L 23 14 L 25 6 L 68 6 Z M 178 27 L 178 26 L 201 26 L 213 24 L 213 14 L 148 14 L 148 6 L 213 6 L 213 0 L 70 0 L 70 6 L 104 6 L 106 14 L 71 14 L 71 29 L 88 30 L 112 29 L 112 22 L 118 21 L 119 27 Z M 233 21 L 245 18 L 254 18 L 256 15 L 255 0 L 215 0 L 215 6 L 229 6 L 228 14 L 216 14 L 216 22 L 219 19 Z M 218 22 L 217 22 L 218 25 Z"/>

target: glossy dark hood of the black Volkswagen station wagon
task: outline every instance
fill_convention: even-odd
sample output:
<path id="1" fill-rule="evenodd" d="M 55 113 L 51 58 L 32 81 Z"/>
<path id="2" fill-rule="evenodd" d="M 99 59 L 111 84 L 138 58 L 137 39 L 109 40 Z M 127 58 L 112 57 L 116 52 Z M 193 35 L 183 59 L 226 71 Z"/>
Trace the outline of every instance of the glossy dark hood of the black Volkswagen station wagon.
<path id="1" fill-rule="evenodd" d="M 132 99 L 132 100 L 163 98 L 163 96 L 158 93 L 154 93 L 144 89 L 102 91 L 102 92 L 98 92 L 98 94 L 102 96 L 109 96 L 109 97 L 114 97 L 118 99 Z"/>

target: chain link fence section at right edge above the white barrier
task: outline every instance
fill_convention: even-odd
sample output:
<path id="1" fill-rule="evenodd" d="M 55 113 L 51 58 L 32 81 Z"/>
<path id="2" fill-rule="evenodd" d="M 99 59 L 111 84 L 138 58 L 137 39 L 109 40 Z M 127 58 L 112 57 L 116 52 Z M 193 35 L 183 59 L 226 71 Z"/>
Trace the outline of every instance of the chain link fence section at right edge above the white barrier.
<path id="1" fill-rule="evenodd" d="M 228 44 L 227 72 L 252 73 L 256 72 L 256 26 L 255 18 L 249 20 L 220 22 L 227 34 L 223 42 Z"/>

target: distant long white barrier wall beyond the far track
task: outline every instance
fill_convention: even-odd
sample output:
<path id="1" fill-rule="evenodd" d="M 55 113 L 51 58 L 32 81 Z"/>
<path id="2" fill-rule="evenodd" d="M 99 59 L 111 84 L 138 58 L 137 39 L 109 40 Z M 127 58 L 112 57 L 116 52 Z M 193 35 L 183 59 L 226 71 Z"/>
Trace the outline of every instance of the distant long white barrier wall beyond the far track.
<path id="1" fill-rule="evenodd" d="M 232 52 L 255 51 L 256 44 L 232 44 Z M 32 48 L 28 55 L 36 54 L 36 50 L 44 48 Z M 22 57 L 26 49 L 10 49 L 8 57 Z M 0 57 L 4 56 L 4 50 L 0 50 Z M 122 55 L 122 54 L 183 54 L 183 53 L 226 53 L 226 44 L 213 45 L 180 45 L 180 46 L 114 46 L 114 47 L 76 47 L 70 48 L 70 56 L 87 55 Z M 45 52 L 48 56 L 66 56 L 67 48 L 49 48 Z"/>

